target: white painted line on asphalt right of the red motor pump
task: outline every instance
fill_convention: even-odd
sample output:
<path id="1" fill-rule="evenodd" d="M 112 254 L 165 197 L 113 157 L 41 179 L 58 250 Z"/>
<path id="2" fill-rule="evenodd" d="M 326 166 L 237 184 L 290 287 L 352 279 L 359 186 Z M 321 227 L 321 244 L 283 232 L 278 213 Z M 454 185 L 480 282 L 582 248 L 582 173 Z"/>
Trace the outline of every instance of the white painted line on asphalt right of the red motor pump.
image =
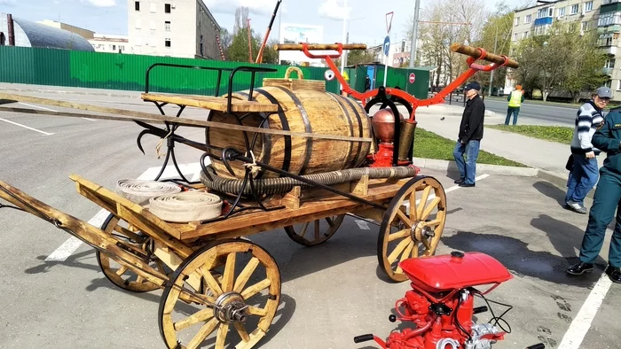
<path id="1" fill-rule="evenodd" d="M 600 309 L 601 302 L 606 297 L 612 281 L 606 273 L 601 274 L 600 280 L 595 283 L 595 287 L 586 298 L 585 304 L 578 311 L 578 315 L 570 324 L 570 328 L 562 337 L 559 349 L 578 349 L 582 345 L 582 340 L 586 332 L 591 329 L 591 322 L 597 311 Z"/>

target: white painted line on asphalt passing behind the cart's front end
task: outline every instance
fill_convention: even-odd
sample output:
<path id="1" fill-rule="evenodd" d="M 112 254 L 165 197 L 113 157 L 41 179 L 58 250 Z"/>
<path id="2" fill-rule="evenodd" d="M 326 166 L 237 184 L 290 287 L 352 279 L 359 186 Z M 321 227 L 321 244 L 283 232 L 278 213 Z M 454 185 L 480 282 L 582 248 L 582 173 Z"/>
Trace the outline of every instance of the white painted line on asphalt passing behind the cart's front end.
<path id="1" fill-rule="evenodd" d="M 209 160 L 205 161 L 207 164 Z M 181 173 L 183 173 L 187 178 L 189 174 L 193 174 L 193 179 L 188 179 L 189 181 L 194 181 L 194 178 L 200 176 L 200 164 L 198 162 L 192 164 L 179 164 L 179 169 Z M 151 167 L 148 168 L 143 174 L 138 176 L 139 180 L 153 180 L 155 176 L 160 173 L 161 167 Z M 160 180 L 164 180 L 170 177 L 177 177 L 177 169 L 174 166 L 167 166 L 164 170 L 164 173 L 161 174 Z M 104 209 L 101 209 L 93 218 L 90 219 L 89 224 L 101 228 L 101 225 L 106 221 L 106 217 L 110 213 Z M 82 240 L 77 237 L 69 237 L 67 241 L 59 246 L 54 252 L 45 259 L 45 261 L 64 261 L 69 258 L 71 254 L 75 252 L 82 245 Z"/>

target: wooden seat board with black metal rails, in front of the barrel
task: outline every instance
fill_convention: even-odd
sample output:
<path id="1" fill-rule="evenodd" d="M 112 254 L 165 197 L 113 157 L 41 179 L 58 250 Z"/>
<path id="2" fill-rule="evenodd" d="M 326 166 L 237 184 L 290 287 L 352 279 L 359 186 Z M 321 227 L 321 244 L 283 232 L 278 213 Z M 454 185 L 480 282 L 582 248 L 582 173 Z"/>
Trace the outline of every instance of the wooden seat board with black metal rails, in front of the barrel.
<path id="1" fill-rule="evenodd" d="M 140 97 L 149 102 L 169 103 L 173 105 L 194 106 L 220 112 L 227 111 L 227 98 L 210 97 L 200 95 L 162 95 L 143 93 Z M 231 112 L 278 112 L 279 106 L 274 104 L 261 104 L 233 98 L 231 100 Z"/>

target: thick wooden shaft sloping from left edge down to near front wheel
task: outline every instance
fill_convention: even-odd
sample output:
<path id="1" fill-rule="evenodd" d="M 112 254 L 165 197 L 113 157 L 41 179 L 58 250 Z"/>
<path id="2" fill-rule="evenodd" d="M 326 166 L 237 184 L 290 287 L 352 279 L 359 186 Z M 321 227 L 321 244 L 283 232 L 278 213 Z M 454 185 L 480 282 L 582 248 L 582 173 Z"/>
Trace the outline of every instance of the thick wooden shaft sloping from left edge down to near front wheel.
<path id="1" fill-rule="evenodd" d="M 106 234 L 105 231 L 93 227 L 89 223 L 75 218 L 74 216 L 63 213 L 2 181 L 0 181 L 0 198 L 3 198 L 20 210 L 31 213 L 43 219 L 43 221 L 50 222 L 56 228 L 65 230 L 70 235 L 77 237 L 96 250 L 114 256 L 114 260 L 119 261 L 119 263 L 132 266 L 138 275 L 141 275 L 152 283 L 161 286 L 168 280 L 166 275 L 145 265 L 143 259 L 137 254 L 132 253 L 136 251 L 123 248 L 127 246 L 124 246 L 122 242 Z M 1 207 L 2 206 L 0 206 L 0 208 Z"/>

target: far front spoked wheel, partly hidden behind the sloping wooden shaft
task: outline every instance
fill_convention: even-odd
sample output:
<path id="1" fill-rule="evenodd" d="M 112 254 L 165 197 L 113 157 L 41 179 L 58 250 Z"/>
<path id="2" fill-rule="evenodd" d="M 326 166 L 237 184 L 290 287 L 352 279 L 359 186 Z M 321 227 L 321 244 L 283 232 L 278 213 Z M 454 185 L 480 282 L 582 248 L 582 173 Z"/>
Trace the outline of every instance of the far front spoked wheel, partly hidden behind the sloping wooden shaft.
<path id="1" fill-rule="evenodd" d="M 169 275 L 171 273 L 170 269 L 164 266 L 164 263 L 153 255 L 153 241 L 151 238 L 146 237 L 131 224 L 120 220 L 119 217 L 114 214 L 110 214 L 106 218 L 106 221 L 104 221 L 101 229 L 107 234 L 112 235 L 123 244 L 130 245 L 132 248 L 135 248 L 140 252 L 144 252 L 146 257 L 143 258 L 143 260 L 145 260 L 147 264 L 151 264 L 153 268 L 156 268 L 165 275 Z M 148 292 L 160 288 L 156 284 L 151 283 L 145 280 L 142 276 L 134 273 L 131 268 L 120 264 L 114 259 L 114 256 L 107 255 L 99 250 L 96 250 L 95 254 L 99 268 L 101 268 L 101 271 L 104 272 L 106 278 L 123 290 L 132 292 Z"/>

